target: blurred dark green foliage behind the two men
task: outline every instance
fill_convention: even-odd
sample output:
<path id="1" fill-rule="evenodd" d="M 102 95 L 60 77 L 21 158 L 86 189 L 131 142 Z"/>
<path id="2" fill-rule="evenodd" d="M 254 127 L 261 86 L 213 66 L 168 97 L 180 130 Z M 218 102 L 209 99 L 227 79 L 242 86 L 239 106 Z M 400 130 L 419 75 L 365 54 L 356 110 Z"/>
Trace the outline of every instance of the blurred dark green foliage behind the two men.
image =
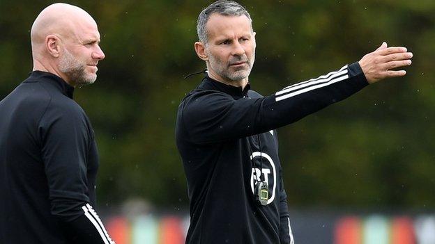
<path id="1" fill-rule="evenodd" d="M 188 208 L 174 142 L 176 109 L 204 69 L 196 19 L 211 1 L 67 1 L 97 21 L 106 58 L 77 88 L 100 149 L 98 202 L 140 198 Z M 0 99 L 31 72 L 31 24 L 52 1 L 0 0 Z M 240 1 L 257 32 L 250 82 L 263 95 L 353 63 L 381 42 L 408 47 L 413 65 L 278 130 L 289 206 L 435 206 L 435 1 Z"/>

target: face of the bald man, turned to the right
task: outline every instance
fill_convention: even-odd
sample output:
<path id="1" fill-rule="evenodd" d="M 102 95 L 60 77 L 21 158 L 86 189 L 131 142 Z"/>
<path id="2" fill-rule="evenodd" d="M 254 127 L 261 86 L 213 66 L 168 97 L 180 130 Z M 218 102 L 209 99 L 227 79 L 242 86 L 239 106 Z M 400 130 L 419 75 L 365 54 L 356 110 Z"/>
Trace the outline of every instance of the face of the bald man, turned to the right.
<path id="1" fill-rule="evenodd" d="M 95 22 L 75 26 L 72 35 L 66 39 L 59 70 L 77 86 L 91 84 L 97 79 L 98 60 L 105 58 L 99 46 L 100 33 Z"/>

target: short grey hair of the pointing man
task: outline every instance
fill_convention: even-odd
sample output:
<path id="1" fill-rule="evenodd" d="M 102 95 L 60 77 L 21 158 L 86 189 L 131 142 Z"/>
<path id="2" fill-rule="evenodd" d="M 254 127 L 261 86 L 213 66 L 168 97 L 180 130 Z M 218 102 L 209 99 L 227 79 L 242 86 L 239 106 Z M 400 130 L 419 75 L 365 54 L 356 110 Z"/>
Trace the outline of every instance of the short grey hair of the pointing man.
<path id="1" fill-rule="evenodd" d="M 207 44 L 208 43 L 208 33 L 206 29 L 206 24 L 208 19 L 213 13 L 217 13 L 224 16 L 241 16 L 245 15 L 250 22 L 252 23 L 252 19 L 247 10 L 243 8 L 239 3 L 235 1 L 228 0 L 219 0 L 211 3 L 210 6 L 204 8 L 204 10 L 199 13 L 198 21 L 197 21 L 197 33 L 198 39 L 200 42 Z"/>

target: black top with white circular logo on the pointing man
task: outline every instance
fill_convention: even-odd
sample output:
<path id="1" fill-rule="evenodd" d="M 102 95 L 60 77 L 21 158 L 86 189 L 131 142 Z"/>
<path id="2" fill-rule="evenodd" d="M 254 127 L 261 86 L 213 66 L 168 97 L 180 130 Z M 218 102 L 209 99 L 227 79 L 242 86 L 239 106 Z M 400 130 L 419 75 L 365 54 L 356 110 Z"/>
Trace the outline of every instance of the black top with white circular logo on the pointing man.
<path id="1" fill-rule="evenodd" d="M 206 76 L 181 101 L 176 122 L 190 198 L 186 243 L 293 243 L 274 129 L 367 84 L 358 63 L 268 97 Z M 268 183 L 266 206 L 254 200 L 254 172 Z"/>

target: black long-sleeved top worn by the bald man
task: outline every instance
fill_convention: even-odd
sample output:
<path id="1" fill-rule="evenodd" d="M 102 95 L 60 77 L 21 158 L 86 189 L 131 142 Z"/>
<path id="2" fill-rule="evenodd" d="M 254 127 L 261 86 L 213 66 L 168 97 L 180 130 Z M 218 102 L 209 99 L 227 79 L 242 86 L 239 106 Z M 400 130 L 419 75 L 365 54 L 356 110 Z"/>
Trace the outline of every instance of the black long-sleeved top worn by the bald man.
<path id="1" fill-rule="evenodd" d="M 111 243 L 92 209 L 98 152 L 73 91 L 35 71 L 0 101 L 0 243 Z"/>

